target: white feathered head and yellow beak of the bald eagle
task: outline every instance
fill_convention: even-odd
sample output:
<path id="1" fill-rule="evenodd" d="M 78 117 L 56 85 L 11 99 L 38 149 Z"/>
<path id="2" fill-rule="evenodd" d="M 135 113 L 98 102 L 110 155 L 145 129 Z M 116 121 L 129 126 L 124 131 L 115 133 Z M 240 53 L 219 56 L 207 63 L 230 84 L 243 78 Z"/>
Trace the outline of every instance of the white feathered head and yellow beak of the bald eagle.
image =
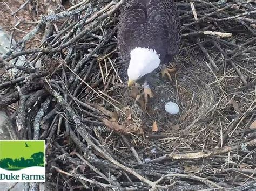
<path id="1" fill-rule="evenodd" d="M 150 48 L 136 47 L 130 53 L 128 67 L 128 86 L 131 86 L 140 77 L 151 73 L 160 65 L 160 58 L 156 51 Z"/>

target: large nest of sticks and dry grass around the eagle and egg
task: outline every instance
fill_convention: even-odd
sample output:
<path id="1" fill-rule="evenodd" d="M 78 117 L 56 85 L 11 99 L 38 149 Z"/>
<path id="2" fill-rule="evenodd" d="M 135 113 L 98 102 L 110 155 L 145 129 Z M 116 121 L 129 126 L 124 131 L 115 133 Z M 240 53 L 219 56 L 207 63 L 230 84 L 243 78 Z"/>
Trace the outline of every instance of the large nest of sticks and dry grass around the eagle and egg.
<path id="1" fill-rule="evenodd" d="M 17 8 L 10 38 L 31 30 L 0 57 L 4 131 L 46 140 L 46 190 L 256 189 L 253 1 L 177 2 L 179 68 L 148 110 L 118 56 L 124 1 L 62 2 Z"/>

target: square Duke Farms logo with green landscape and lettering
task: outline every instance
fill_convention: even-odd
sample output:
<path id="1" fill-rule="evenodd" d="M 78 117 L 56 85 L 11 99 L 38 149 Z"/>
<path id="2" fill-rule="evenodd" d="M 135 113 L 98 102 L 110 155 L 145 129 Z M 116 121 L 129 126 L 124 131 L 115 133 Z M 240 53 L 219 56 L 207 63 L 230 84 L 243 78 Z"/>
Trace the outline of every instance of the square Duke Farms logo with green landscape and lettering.
<path id="1" fill-rule="evenodd" d="M 45 140 L 0 140 L 0 182 L 45 182 Z"/>

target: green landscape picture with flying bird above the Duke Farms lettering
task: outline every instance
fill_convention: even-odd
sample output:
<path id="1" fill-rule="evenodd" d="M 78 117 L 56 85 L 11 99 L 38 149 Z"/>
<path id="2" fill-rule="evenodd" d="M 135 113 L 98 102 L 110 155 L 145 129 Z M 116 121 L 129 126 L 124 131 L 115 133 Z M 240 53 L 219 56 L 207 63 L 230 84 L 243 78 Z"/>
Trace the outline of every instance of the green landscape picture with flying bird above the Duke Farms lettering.
<path id="1" fill-rule="evenodd" d="M 17 171 L 32 166 L 44 167 L 44 141 L 0 140 L 0 167 Z"/>

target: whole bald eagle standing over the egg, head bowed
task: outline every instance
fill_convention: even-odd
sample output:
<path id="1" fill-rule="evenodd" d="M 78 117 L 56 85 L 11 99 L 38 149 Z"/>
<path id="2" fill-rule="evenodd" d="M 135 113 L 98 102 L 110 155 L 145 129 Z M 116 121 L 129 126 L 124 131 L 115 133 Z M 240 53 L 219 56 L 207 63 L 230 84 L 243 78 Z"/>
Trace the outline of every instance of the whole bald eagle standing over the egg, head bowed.
<path id="1" fill-rule="evenodd" d="M 167 63 L 178 53 L 181 27 L 173 0 L 128 0 L 120 13 L 118 49 L 129 63 L 128 86 L 144 81 L 145 102 L 153 97 L 147 77 L 160 67 L 161 74 L 171 79 Z"/>

